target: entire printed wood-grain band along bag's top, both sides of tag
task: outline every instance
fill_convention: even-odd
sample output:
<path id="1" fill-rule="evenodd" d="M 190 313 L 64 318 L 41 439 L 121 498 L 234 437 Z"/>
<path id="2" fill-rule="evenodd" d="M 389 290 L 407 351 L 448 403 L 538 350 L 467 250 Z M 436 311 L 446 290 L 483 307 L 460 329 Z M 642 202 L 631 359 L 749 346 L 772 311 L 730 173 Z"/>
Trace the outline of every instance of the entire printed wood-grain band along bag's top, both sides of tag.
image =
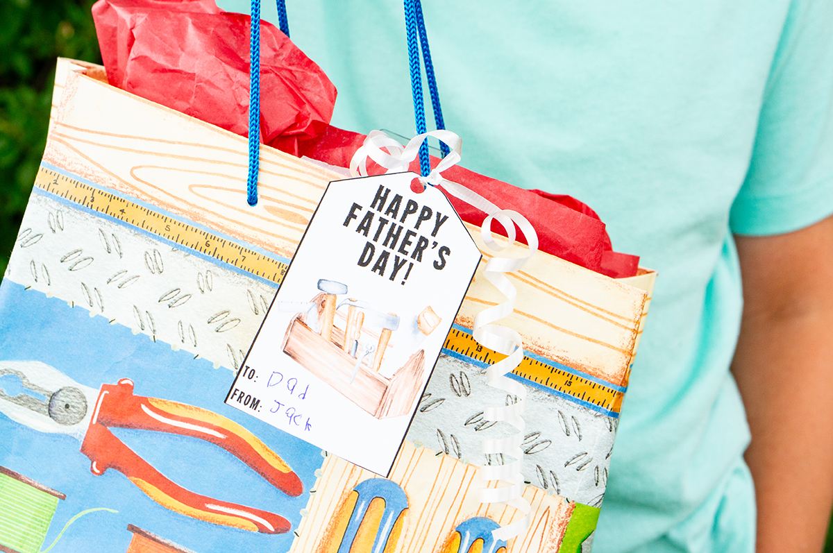
<path id="1" fill-rule="evenodd" d="M 327 182 L 339 176 L 261 148 L 261 201 L 245 201 L 247 142 L 76 72 L 67 72 L 44 159 L 217 231 L 292 257 Z M 467 226 L 485 251 L 476 227 Z M 525 247 L 515 244 L 514 252 Z M 502 300 L 481 263 L 457 324 Z M 510 277 L 525 346 L 614 384 L 626 382 L 646 293 L 538 252 Z"/>

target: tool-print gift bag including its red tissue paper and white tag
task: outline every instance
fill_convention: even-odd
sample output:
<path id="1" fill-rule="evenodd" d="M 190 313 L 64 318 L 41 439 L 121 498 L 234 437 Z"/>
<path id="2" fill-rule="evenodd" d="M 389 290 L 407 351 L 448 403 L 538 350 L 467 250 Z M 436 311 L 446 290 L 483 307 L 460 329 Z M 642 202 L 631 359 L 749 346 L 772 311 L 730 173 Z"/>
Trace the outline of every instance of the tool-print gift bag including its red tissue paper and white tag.
<path id="1" fill-rule="evenodd" d="M 264 142 L 332 166 L 262 147 L 250 207 L 252 161 L 232 134 L 247 129 L 247 18 L 202 0 L 94 12 L 112 42 L 107 72 L 59 61 L 47 150 L 0 287 L 2 549 L 589 549 L 653 273 L 613 252 L 571 198 L 446 167 L 541 227 L 543 252 L 498 291 L 493 242 L 472 225 L 485 214 L 436 190 L 420 200 L 413 183 L 406 193 L 407 174 L 339 180 L 335 166 L 372 137 L 327 125 L 332 85 L 269 26 Z M 377 183 L 359 222 L 358 191 Z M 343 224 L 334 197 L 352 202 Z M 416 232 L 433 215 L 430 235 Z M 347 244 L 334 235 L 353 219 L 364 237 L 378 222 L 357 262 L 370 267 L 378 248 L 372 269 L 352 267 L 362 286 L 329 280 L 347 274 L 332 268 Z M 449 219 L 456 235 L 437 235 Z M 431 286 L 365 282 L 395 257 L 389 280 L 404 286 L 424 252 L 437 256 Z M 440 273 L 460 259 L 471 268 Z M 317 289 L 298 284 L 302 271 Z M 522 357 L 495 388 L 505 355 L 483 346 L 478 320 L 511 306 L 512 286 L 501 323 L 524 349 L 495 346 Z M 421 311 L 380 309 L 382 297 Z"/>

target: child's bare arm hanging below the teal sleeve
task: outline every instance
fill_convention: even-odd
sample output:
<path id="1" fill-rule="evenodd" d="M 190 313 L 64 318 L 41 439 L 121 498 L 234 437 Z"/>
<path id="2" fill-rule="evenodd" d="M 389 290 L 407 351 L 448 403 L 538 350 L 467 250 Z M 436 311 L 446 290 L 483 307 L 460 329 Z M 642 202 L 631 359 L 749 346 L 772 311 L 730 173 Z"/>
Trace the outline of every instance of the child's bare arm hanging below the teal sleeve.
<path id="1" fill-rule="evenodd" d="M 817 553 L 833 504 L 833 217 L 736 244 L 744 310 L 732 371 L 752 431 L 757 551 Z"/>

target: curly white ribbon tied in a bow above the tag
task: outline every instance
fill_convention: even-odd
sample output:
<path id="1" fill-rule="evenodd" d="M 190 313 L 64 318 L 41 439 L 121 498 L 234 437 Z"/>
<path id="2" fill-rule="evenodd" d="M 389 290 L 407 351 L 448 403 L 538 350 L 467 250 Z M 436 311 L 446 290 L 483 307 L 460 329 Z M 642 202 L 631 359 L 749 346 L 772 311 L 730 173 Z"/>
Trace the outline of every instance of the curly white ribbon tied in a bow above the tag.
<path id="1" fill-rule="evenodd" d="M 481 466 L 479 471 L 481 481 L 484 481 L 484 486 L 481 488 L 482 503 L 503 503 L 506 506 L 514 507 L 524 514 L 517 521 L 492 531 L 492 536 L 497 540 L 506 541 L 521 535 L 529 526 L 528 515 L 531 506 L 529 501 L 523 498 L 526 485 L 524 484 L 523 473 L 521 471 L 524 455 L 521 449 L 521 443 L 525 429 L 524 420 L 521 415 L 523 414 L 526 402 L 526 388 L 519 382 L 513 381 L 506 376 L 523 361 L 523 341 L 521 335 L 511 328 L 493 323 L 511 315 L 512 311 L 514 311 L 517 291 L 505 273 L 520 270 L 526 264 L 527 260 L 537 252 L 538 235 L 530 222 L 526 220 L 526 217 L 523 217 L 520 213 L 509 209 L 500 209 L 480 194 L 471 191 L 461 184 L 448 181 L 441 176 L 441 172 L 455 165 L 461 158 L 461 139 L 454 132 L 445 130 L 425 132 L 413 137 L 407 143 L 407 146 L 402 147 L 402 144 L 388 137 L 384 132 L 372 131 L 367 135 L 362 147 L 353 155 L 350 162 L 350 172 L 353 177 L 367 177 L 368 157 L 374 162 L 377 162 L 381 167 L 384 167 L 386 173 L 406 172 L 411 162 L 416 159 L 419 153 L 419 147 L 426 137 L 435 137 L 441 140 L 441 142 L 445 142 L 446 146 L 451 149 L 451 152 L 431 170 L 431 173 L 427 177 L 419 177 L 420 182 L 432 186 L 439 185 L 452 196 L 486 213 L 488 217 L 486 217 L 481 225 L 481 237 L 486 247 L 491 250 L 492 257 L 486 263 L 483 276 L 506 296 L 506 301 L 477 313 L 474 318 L 474 328 L 472 329 L 475 340 L 481 346 L 506 355 L 506 359 L 486 368 L 486 379 L 489 386 L 505 391 L 507 394 L 516 398 L 515 403 L 509 406 L 486 407 L 483 414 L 483 417 L 487 421 L 503 421 L 511 424 L 517 430 L 515 434 L 506 438 L 484 440 L 482 443 L 483 453 L 486 455 L 502 454 L 511 456 L 513 461 L 507 462 L 504 465 Z M 382 148 L 387 148 L 387 152 L 382 150 Z M 506 230 L 507 239 L 505 243 L 501 244 L 501 242 L 498 242 L 492 234 L 491 222 L 493 220 L 499 222 Z M 498 254 L 500 252 L 511 247 L 515 242 L 516 225 L 521 229 L 524 237 L 526 237 L 528 244 L 526 255 L 523 257 L 499 256 Z M 486 481 L 496 482 L 496 487 L 485 486 Z M 508 486 L 500 486 L 501 483 L 507 484 Z"/>

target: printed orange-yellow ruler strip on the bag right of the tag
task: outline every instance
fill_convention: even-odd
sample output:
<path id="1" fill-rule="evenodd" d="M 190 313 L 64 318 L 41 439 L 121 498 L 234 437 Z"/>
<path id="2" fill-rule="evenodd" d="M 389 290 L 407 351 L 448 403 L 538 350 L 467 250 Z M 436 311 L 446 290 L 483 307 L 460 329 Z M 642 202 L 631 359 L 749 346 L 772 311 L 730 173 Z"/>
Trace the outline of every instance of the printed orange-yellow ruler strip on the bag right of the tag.
<path id="1" fill-rule="evenodd" d="M 505 355 L 481 346 L 469 332 L 458 328 L 451 328 L 442 347 L 458 356 L 465 356 L 486 365 L 506 358 Z M 596 411 L 618 413 L 624 397 L 624 391 L 620 386 L 606 386 L 591 377 L 576 375 L 566 367 L 560 368 L 554 362 L 548 364 L 528 356 L 524 356 L 521 365 L 512 371 L 512 374 L 533 381 L 548 390 L 571 396 L 580 403 L 596 406 Z"/>

